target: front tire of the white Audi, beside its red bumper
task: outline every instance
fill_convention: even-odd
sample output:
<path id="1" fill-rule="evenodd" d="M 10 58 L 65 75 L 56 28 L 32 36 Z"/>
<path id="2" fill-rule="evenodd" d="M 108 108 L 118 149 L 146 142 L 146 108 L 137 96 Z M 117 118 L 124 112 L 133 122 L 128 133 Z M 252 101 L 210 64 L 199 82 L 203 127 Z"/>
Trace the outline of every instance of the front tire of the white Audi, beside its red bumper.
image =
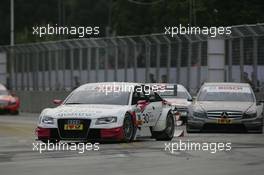
<path id="1" fill-rule="evenodd" d="M 133 119 L 129 114 L 126 114 L 124 118 L 123 133 L 123 142 L 131 142 L 136 134 L 136 128 L 133 124 Z"/>

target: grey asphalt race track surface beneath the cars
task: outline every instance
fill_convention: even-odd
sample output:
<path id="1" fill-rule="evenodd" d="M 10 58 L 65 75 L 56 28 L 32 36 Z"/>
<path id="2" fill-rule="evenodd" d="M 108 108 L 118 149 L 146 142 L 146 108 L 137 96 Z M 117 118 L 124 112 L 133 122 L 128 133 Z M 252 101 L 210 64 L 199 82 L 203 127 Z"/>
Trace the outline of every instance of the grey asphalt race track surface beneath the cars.
<path id="1" fill-rule="evenodd" d="M 231 151 L 165 150 L 165 142 L 139 138 L 133 143 L 101 143 L 98 151 L 33 150 L 38 114 L 0 116 L 1 175 L 212 175 L 264 173 L 263 134 L 202 133 L 175 137 L 171 143 L 231 142 Z M 184 129 L 184 126 L 177 130 Z"/>

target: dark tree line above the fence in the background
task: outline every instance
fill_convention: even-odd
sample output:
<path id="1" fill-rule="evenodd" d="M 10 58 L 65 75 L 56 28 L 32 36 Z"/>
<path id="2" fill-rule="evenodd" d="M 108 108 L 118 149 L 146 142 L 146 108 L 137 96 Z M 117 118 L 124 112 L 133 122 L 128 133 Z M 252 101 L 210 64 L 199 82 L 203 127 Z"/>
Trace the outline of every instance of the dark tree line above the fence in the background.
<path id="1" fill-rule="evenodd" d="M 263 0 L 14 0 L 15 43 L 76 36 L 32 35 L 33 26 L 99 26 L 100 37 L 164 32 L 164 26 L 231 26 L 264 22 Z M 149 2 L 151 0 L 138 0 Z M 153 0 L 152 0 L 153 1 Z M 0 2 L 0 45 L 10 43 L 10 0 Z"/>

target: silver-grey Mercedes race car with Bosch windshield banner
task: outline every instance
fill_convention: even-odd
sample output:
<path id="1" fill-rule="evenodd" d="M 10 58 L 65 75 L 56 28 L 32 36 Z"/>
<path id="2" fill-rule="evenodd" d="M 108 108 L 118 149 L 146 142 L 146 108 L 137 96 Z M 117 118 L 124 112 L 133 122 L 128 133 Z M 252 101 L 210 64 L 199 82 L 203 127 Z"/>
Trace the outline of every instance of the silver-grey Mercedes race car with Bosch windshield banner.
<path id="1" fill-rule="evenodd" d="M 205 83 L 189 108 L 187 132 L 263 132 L 263 103 L 246 83 Z"/>

